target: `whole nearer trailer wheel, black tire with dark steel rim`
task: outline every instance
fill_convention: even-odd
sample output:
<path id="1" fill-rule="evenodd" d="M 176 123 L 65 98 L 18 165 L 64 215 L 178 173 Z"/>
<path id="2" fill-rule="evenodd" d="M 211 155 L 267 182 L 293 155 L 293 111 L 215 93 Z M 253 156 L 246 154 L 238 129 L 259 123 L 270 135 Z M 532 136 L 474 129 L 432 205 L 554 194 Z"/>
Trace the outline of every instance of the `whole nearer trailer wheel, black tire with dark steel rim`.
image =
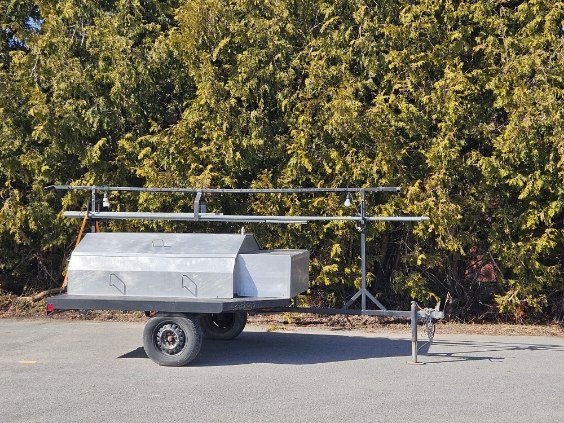
<path id="1" fill-rule="evenodd" d="M 191 314 L 153 317 L 143 330 L 143 348 L 161 366 L 185 366 L 196 358 L 201 346 L 200 321 Z"/>

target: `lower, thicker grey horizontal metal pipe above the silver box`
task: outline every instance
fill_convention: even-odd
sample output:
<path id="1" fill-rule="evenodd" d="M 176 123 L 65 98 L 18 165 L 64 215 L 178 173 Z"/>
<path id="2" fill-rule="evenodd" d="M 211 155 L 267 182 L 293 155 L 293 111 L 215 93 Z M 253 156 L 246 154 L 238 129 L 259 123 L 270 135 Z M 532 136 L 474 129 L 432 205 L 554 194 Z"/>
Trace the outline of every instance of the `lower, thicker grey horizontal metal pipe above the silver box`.
<path id="1" fill-rule="evenodd" d="M 65 217 L 83 218 L 84 211 L 66 211 Z M 155 213 L 155 212 L 88 212 L 91 219 L 98 220 L 178 220 L 178 221 L 205 221 L 205 222 L 267 222 L 267 223 L 306 223 L 312 221 L 361 221 L 360 216 L 253 216 L 200 213 L 198 218 L 194 213 Z M 428 220 L 427 216 L 375 216 L 368 221 L 380 222 L 421 222 Z"/>

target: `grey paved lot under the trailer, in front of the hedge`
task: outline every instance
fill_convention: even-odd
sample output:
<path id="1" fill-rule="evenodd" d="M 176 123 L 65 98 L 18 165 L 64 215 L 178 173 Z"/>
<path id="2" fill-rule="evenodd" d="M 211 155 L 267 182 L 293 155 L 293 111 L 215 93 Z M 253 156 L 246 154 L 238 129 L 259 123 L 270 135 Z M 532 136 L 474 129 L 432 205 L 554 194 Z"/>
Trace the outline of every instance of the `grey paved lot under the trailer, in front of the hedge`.
<path id="1" fill-rule="evenodd" d="M 266 332 L 206 341 L 184 368 L 142 323 L 0 320 L 2 422 L 564 421 L 564 339 Z"/>

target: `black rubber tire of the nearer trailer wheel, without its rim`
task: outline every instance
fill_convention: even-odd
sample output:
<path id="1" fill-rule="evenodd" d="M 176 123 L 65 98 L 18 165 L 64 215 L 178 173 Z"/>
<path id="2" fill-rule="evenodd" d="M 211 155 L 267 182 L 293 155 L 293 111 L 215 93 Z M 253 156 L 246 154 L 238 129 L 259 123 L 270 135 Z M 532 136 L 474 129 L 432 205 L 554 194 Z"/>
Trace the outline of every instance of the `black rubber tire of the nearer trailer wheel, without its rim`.
<path id="1" fill-rule="evenodd" d="M 179 351 L 166 352 L 159 347 L 159 330 L 163 327 L 175 328 L 177 333 L 184 335 L 184 342 L 180 343 Z M 192 314 L 169 314 L 152 317 L 143 330 L 143 348 L 147 356 L 160 366 L 180 367 L 194 360 L 202 346 L 203 333 L 200 319 Z"/>

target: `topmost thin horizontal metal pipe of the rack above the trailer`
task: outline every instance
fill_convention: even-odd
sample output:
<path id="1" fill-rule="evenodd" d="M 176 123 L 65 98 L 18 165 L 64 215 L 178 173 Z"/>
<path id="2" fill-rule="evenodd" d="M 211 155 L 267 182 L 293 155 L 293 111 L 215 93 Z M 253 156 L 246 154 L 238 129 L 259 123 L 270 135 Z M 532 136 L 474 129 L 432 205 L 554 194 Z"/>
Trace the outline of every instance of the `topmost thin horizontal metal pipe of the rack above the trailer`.
<path id="1" fill-rule="evenodd" d="M 205 194 L 297 194 L 323 192 L 399 192 L 400 187 L 351 187 L 351 188 L 160 188 L 160 187 L 112 187 L 105 185 L 49 185 L 45 189 L 63 191 L 131 191 Z"/>

